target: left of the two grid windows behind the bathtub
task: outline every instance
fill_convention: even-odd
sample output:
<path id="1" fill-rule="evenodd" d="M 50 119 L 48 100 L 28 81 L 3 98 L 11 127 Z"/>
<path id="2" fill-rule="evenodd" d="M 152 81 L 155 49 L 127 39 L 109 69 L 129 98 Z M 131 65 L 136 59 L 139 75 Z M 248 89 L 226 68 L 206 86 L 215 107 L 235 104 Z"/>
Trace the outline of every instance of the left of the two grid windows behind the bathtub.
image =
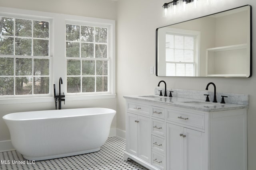
<path id="1" fill-rule="evenodd" d="M 0 16 L 0 97 L 50 94 L 50 24 Z"/>

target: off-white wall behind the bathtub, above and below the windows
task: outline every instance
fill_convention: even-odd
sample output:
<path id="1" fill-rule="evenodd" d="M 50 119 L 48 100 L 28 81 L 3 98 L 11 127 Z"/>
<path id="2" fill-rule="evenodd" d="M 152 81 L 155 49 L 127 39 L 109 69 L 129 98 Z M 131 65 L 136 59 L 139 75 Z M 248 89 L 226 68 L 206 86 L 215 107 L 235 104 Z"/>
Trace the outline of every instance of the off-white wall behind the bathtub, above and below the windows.
<path id="1" fill-rule="evenodd" d="M 72 0 L 72 1 L 71 0 L 43 0 L 43 1 L 42 0 L 22 0 L 22 1 L 0 0 L 0 6 L 8 7 L 8 8 L 19 8 L 22 10 L 36 10 L 41 12 L 70 14 L 70 15 L 77 15 L 77 16 L 116 20 L 116 2 L 111 0 Z M 55 39 L 54 41 L 55 41 L 54 43 L 58 44 L 58 40 Z M 59 57 L 59 55 L 62 53 L 56 50 L 54 54 Z M 61 56 L 64 56 L 64 55 L 61 55 Z M 55 57 L 55 61 L 56 61 L 56 57 Z M 57 77 L 53 81 L 55 84 L 58 84 L 58 78 L 59 76 L 62 76 L 63 78 L 64 70 L 56 70 L 56 67 L 55 67 L 55 70 L 53 68 L 53 72 L 55 77 Z M 62 88 L 64 88 L 64 84 L 62 85 Z M 57 86 L 57 90 L 58 90 L 58 86 Z M 76 100 L 76 101 L 66 100 L 65 105 L 62 102 L 63 109 L 81 108 L 81 107 L 106 107 L 106 108 L 116 110 L 116 98 L 98 99 L 98 100 Z M 20 111 L 49 110 L 49 109 L 55 109 L 53 98 L 52 98 L 52 102 L 49 102 L 49 100 L 47 102 L 36 102 L 36 103 L 34 102 L 28 103 L 23 101 L 22 103 L 16 103 L 16 104 L 8 104 L 8 102 L 0 100 L 0 144 L 1 144 L 1 141 L 10 140 L 10 134 L 6 124 L 2 120 L 2 116 L 8 113 L 14 113 L 14 112 L 20 112 Z M 116 128 L 116 117 L 114 117 L 112 121 L 111 128 L 114 128 L 114 129 Z M 2 149 L 0 148 L 0 150 Z"/>

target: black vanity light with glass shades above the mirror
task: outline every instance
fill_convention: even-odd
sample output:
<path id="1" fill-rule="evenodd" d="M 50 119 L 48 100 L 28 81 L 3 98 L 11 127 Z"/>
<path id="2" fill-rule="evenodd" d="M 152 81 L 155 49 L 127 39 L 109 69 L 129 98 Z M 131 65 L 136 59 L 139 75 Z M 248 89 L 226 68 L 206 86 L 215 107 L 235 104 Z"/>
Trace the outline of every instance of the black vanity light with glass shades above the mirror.
<path id="1" fill-rule="evenodd" d="M 179 1 L 179 2 L 178 2 Z M 162 6 L 164 8 L 164 17 L 167 16 L 167 9 L 170 7 L 173 10 L 173 13 L 176 14 L 176 6 L 180 3 L 181 9 L 183 11 L 186 11 L 186 5 L 190 2 L 195 1 L 195 6 L 196 6 L 196 1 L 197 0 L 173 0 L 172 2 L 164 3 Z"/>

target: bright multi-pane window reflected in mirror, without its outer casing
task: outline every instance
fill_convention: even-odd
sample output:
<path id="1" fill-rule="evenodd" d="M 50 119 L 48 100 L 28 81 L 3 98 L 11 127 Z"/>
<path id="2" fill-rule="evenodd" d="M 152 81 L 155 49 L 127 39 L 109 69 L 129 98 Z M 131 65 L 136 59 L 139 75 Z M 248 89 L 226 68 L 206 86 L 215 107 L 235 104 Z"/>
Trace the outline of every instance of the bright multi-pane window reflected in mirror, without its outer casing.
<path id="1" fill-rule="evenodd" d="M 195 76 L 198 35 L 166 32 L 166 76 Z"/>

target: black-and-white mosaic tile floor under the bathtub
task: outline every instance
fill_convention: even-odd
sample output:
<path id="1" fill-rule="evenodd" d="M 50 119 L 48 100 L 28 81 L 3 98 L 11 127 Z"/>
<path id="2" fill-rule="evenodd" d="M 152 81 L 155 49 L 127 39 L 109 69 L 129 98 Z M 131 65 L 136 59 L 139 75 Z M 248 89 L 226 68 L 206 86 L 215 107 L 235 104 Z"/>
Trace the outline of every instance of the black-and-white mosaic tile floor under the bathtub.
<path id="1" fill-rule="evenodd" d="M 28 161 L 26 162 L 28 164 L 16 162 L 12 164 L 12 161 L 25 160 L 22 154 L 16 150 L 0 152 L 0 170 L 147 170 L 132 160 L 124 161 L 124 150 L 125 141 L 123 139 L 110 137 L 98 152 L 36 161 L 35 163 Z M 8 164 L 8 160 L 10 164 Z"/>

